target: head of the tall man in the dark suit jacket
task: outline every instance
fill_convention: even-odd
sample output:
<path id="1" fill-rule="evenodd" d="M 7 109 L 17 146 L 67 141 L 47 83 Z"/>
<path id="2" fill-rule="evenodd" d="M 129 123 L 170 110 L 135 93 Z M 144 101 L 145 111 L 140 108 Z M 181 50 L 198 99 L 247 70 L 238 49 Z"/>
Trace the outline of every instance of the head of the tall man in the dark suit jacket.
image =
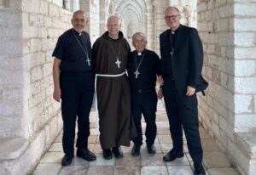
<path id="1" fill-rule="evenodd" d="M 179 21 L 181 20 L 181 15 L 177 8 L 166 8 L 165 20 L 166 25 L 168 25 L 172 31 L 177 30 L 177 27 L 180 24 Z"/>

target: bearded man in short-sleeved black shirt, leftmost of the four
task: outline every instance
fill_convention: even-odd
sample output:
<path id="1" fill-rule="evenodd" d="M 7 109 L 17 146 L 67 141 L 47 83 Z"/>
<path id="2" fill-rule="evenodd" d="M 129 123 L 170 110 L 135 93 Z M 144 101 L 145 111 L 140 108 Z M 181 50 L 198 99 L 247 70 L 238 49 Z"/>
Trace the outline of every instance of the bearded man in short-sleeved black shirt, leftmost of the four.
<path id="1" fill-rule="evenodd" d="M 78 116 L 77 156 L 86 161 L 95 161 L 96 155 L 87 149 L 90 135 L 90 106 L 94 94 L 94 76 L 92 73 L 90 37 L 83 31 L 86 25 L 84 11 L 73 13 L 71 20 L 73 28 L 59 37 L 52 54 L 54 59 L 53 98 L 61 101 L 63 120 L 62 147 L 64 157 L 61 165 L 67 166 L 73 160 L 73 144 L 75 138 L 75 123 Z"/>

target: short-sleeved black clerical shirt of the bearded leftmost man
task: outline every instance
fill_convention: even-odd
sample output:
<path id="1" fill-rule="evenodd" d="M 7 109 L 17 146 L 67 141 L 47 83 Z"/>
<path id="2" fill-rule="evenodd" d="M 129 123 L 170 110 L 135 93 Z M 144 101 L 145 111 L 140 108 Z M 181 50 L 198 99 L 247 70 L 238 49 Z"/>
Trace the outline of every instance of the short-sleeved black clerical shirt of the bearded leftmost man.
<path id="1" fill-rule="evenodd" d="M 86 48 L 85 48 L 86 45 Z M 83 48 L 82 48 L 83 47 Z M 52 54 L 61 59 L 61 71 L 91 71 L 91 44 L 88 33 L 70 29 L 59 37 Z"/>

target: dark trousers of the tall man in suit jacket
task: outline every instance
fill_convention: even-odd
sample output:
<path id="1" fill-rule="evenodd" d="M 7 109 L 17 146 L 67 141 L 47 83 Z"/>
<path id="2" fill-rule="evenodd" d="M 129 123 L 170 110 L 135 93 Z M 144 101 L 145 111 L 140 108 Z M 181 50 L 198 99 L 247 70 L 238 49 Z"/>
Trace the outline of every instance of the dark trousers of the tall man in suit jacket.
<path id="1" fill-rule="evenodd" d="M 163 93 L 166 112 L 169 119 L 173 149 L 183 150 L 183 130 L 187 138 L 189 154 L 195 163 L 202 161 L 201 138 L 199 135 L 198 110 L 196 94 L 186 96 L 177 93 L 175 82 L 165 78 Z"/>

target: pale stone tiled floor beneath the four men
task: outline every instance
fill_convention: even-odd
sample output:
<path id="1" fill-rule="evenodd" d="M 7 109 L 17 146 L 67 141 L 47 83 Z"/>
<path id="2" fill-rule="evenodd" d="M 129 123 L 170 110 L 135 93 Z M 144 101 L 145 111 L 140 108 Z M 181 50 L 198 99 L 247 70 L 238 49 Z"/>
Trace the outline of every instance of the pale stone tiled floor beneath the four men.
<path id="1" fill-rule="evenodd" d="M 102 157 L 102 150 L 98 140 L 96 129 L 96 112 L 90 114 L 91 134 L 89 138 L 89 149 L 96 154 L 97 160 L 88 162 L 74 157 L 73 163 L 68 167 L 61 167 L 63 156 L 61 147 L 61 134 L 55 139 L 48 152 L 39 162 L 38 167 L 32 175 L 192 175 L 193 161 L 188 153 L 186 139 L 184 138 L 183 158 L 172 162 L 162 161 L 162 157 L 172 149 L 172 139 L 169 133 L 166 111 L 162 102 L 159 101 L 156 117 L 157 138 L 155 139 L 156 154 L 148 155 L 145 144 L 143 144 L 141 155 L 131 156 L 131 147 L 122 147 L 124 158 L 106 161 Z M 143 121 L 143 128 L 145 123 Z M 210 138 L 206 131 L 200 127 L 201 142 L 204 150 L 203 165 L 207 174 L 211 175 L 238 175 L 236 169 L 231 167 L 230 161 L 225 154 L 218 149 L 218 145 Z"/>

